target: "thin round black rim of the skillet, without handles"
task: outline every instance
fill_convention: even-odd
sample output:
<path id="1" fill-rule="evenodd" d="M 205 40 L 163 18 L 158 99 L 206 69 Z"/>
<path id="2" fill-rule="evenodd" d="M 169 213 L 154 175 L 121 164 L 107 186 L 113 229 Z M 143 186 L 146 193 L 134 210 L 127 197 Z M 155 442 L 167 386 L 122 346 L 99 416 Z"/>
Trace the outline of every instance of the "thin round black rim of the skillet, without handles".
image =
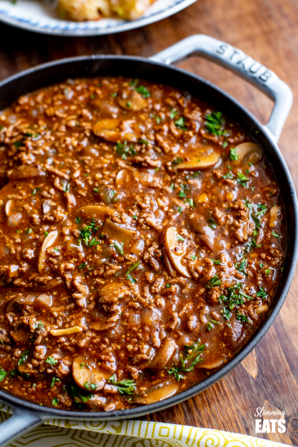
<path id="1" fill-rule="evenodd" d="M 298 257 L 298 203 L 296 198 L 296 193 L 294 189 L 294 184 L 292 181 L 292 178 L 290 176 L 289 169 L 287 165 L 285 164 L 285 160 L 281 156 L 281 152 L 279 151 L 277 144 L 273 141 L 271 135 L 264 129 L 264 127 L 260 124 L 260 122 L 252 115 L 251 112 L 249 112 L 243 105 L 239 103 L 235 98 L 231 97 L 228 93 L 226 93 L 224 90 L 220 89 L 216 85 L 210 83 L 209 81 L 201 78 L 200 76 L 197 76 L 193 73 L 187 72 L 186 70 L 182 70 L 177 67 L 168 66 L 164 63 L 158 63 L 155 61 L 151 61 L 145 58 L 137 57 L 137 56 L 117 56 L 117 55 L 90 55 L 90 56 L 76 56 L 71 58 L 64 58 L 64 59 L 58 59 L 55 61 L 43 63 L 41 65 L 38 65 L 33 68 L 29 68 L 28 70 L 24 70 L 20 73 L 17 73 L 16 75 L 10 76 L 9 78 L 3 80 L 0 82 L 0 89 L 5 88 L 5 85 L 7 85 L 10 82 L 20 80 L 21 78 L 25 76 L 29 76 L 30 74 L 33 74 L 34 72 L 42 71 L 44 69 L 49 69 L 51 67 L 63 65 L 64 63 L 76 63 L 76 62 L 92 62 L 96 60 L 127 60 L 127 61 L 134 61 L 134 62 L 140 62 L 140 63 L 148 63 L 151 65 L 157 65 L 159 67 L 168 68 L 169 70 L 173 70 L 177 73 L 180 73 L 181 75 L 186 75 L 194 80 L 199 81 L 201 84 L 205 84 L 209 88 L 213 89 L 215 93 L 218 95 L 221 95 L 225 98 L 231 105 L 233 105 L 236 109 L 240 109 L 240 111 L 245 115 L 246 118 L 250 119 L 254 125 L 254 130 L 259 133 L 259 136 L 263 138 L 263 140 L 266 143 L 269 143 L 273 148 L 273 153 L 277 157 L 277 161 L 280 163 L 280 170 L 283 171 L 283 174 L 285 175 L 285 178 L 287 180 L 287 186 L 290 190 L 290 202 L 293 207 L 292 212 L 294 219 L 293 222 L 293 235 L 287 234 L 286 237 L 288 239 L 288 245 L 291 244 L 292 249 L 290 250 L 292 252 L 292 258 L 289 259 L 289 253 L 287 253 L 285 258 L 285 270 L 281 277 L 281 283 L 283 283 L 283 287 L 281 291 L 277 291 L 277 295 L 279 295 L 278 298 L 275 299 L 275 303 L 273 306 L 269 309 L 269 316 L 267 320 L 264 321 L 263 325 L 256 330 L 256 332 L 252 335 L 249 342 L 241 349 L 239 350 L 239 353 L 235 355 L 235 357 L 227 363 L 224 367 L 216 371 L 213 375 L 208 377 L 206 380 L 203 380 L 197 385 L 194 385 L 192 388 L 189 388 L 188 390 L 181 392 L 179 394 L 176 394 L 172 397 L 169 397 L 165 399 L 164 401 L 155 402 L 153 404 L 144 405 L 140 407 L 134 407 L 134 408 L 128 408 L 124 410 L 114 410 L 109 413 L 107 412 L 91 412 L 91 411 L 71 411 L 71 410 L 62 410 L 62 409 L 52 409 L 50 407 L 43 407 L 38 404 L 34 404 L 29 401 L 22 400 L 19 397 L 13 396 L 12 394 L 9 394 L 7 392 L 4 392 L 2 389 L 0 389 L 0 398 L 10 404 L 10 405 L 17 405 L 19 408 L 23 407 L 29 410 L 34 410 L 34 412 L 39 413 L 42 418 L 45 417 L 66 417 L 68 419 L 84 419 L 84 420 L 102 420 L 102 421 L 112 421 L 117 419 L 128 419 L 128 418 L 134 418 L 134 417 L 140 417 L 144 414 L 153 413 L 156 411 L 163 410 L 165 408 L 168 408 L 170 406 L 176 405 L 178 403 L 181 403 L 199 392 L 204 391 L 206 388 L 210 387 L 212 384 L 217 382 L 218 380 L 222 379 L 224 375 L 226 375 L 229 371 L 231 371 L 236 365 L 238 365 L 243 358 L 245 358 L 251 350 L 257 345 L 258 342 L 260 342 L 261 338 L 264 337 L 265 333 L 268 331 L 270 326 L 273 324 L 273 321 L 277 317 L 278 312 L 281 309 L 282 304 L 285 301 L 286 295 L 290 289 L 290 285 L 293 280 L 297 257 Z M 88 73 L 86 73 L 85 76 L 88 76 Z M 83 75 L 82 75 L 83 77 Z M 171 85 L 169 82 L 168 84 Z M 245 124 L 242 124 L 243 128 L 245 128 Z M 247 131 L 248 132 L 248 131 Z M 251 132 L 248 132 L 248 135 L 251 135 Z M 252 137 L 255 138 L 255 137 Z M 259 139 L 259 138 L 258 138 Z M 273 168 L 272 168 L 273 169 Z M 276 169 L 273 169 L 273 172 L 276 173 Z M 281 186 L 281 190 L 284 190 L 284 186 Z M 289 220 L 289 217 L 287 216 L 287 221 Z M 289 237 L 291 237 L 291 241 L 289 241 Z M 294 236 L 294 237 L 293 237 Z M 289 252 L 289 248 L 288 248 Z M 287 276 L 285 278 L 285 276 Z M 280 286 L 281 286 L 280 283 Z"/>

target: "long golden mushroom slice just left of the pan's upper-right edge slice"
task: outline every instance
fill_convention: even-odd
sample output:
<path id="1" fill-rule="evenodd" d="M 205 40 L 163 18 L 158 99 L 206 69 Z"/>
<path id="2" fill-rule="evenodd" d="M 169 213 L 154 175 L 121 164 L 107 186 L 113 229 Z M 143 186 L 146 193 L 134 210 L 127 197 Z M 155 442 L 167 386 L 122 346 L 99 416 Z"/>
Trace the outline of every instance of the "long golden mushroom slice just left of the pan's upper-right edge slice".
<path id="1" fill-rule="evenodd" d="M 211 147 L 197 147 L 193 145 L 189 151 L 184 154 L 185 161 L 177 164 L 177 169 L 209 169 L 220 159 L 220 153 L 215 152 Z"/>

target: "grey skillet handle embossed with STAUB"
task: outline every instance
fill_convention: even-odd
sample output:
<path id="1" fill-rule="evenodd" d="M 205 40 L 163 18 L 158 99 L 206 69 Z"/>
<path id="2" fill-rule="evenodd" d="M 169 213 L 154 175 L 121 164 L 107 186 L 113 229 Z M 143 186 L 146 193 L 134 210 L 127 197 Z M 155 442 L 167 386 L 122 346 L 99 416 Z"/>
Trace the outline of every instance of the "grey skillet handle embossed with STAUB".
<path id="1" fill-rule="evenodd" d="M 205 34 L 189 36 L 149 59 L 168 65 L 193 54 L 202 55 L 229 68 L 275 101 L 269 121 L 263 127 L 277 142 L 293 102 L 290 87 L 275 73 L 243 51 Z"/>

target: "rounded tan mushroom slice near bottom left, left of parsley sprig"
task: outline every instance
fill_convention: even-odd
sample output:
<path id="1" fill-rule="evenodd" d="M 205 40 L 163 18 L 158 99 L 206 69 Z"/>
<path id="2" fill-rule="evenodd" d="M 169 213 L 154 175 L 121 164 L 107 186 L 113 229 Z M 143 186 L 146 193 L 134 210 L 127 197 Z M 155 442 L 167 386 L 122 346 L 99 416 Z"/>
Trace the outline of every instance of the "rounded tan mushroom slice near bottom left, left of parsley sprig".
<path id="1" fill-rule="evenodd" d="M 97 392 L 105 386 L 105 379 L 109 379 L 110 374 L 99 370 L 97 363 L 84 355 L 77 355 L 72 363 L 72 375 L 76 384 L 84 390 Z"/>

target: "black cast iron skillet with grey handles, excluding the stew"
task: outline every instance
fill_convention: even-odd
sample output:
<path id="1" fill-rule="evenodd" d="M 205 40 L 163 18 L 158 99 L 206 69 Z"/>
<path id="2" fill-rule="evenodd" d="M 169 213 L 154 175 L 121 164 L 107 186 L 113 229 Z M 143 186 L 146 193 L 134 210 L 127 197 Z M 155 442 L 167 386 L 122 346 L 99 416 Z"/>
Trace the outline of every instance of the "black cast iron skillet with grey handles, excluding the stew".
<path id="1" fill-rule="evenodd" d="M 275 105 L 269 122 L 262 126 L 239 102 L 218 87 L 184 70 L 168 66 L 168 64 L 187 57 L 194 52 L 237 72 L 271 97 L 275 101 Z M 189 399 L 221 379 L 256 346 L 277 316 L 293 279 L 298 256 L 298 204 L 289 170 L 277 147 L 277 139 L 292 105 L 290 88 L 273 72 L 245 55 L 242 51 L 233 48 L 227 43 L 199 34 L 176 43 L 150 59 L 130 56 L 92 55 L 60 59 L 31 68 L 0 83 L 0 110 L 10 105 L 12 101 L 24 93 L 67 78 L 109 75 L 145 78 L 158 83 L 169 84 L 179 89 L 185 89 L 193 96 L 208 101 L 216 107 L 216 110 L 221 110 L 230 116 L 231 119 L 239 122 L 248 134 L 260 144 L 268 157 L 271 168 L 275 172 L 285 203 L 286 257 L 281 283 L 275 302 L 269 309 L 266 319 L 235 358 L 200 384 L 164 401 L 109 413 L 75 412 L 32 404 L 4 390 L 0 390 L 0 398 L 14 408 L 13 416 L 0 426 L 0 445 L 12 442 L 13 439 L 40 425 L 49 417 L 112 421 L 139 417 Z"/>

